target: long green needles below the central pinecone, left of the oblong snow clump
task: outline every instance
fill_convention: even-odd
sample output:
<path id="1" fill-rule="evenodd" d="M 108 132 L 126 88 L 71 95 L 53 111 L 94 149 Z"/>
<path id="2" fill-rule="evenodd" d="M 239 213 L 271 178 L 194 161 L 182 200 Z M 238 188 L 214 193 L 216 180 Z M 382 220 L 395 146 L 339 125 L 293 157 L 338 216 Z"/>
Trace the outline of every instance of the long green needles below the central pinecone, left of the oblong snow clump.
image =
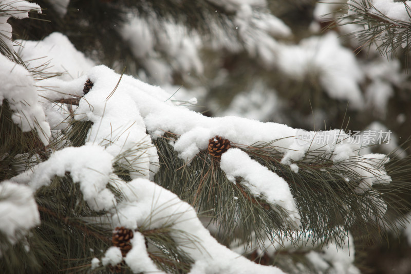
<path id="1" fill-rule="evenodd" d="M 190 166 L 186 165 L 177 157 L 166 138 L 155 140 L 160 156 L 156 182 L 199 210 L 214 216 L 221 240 L 230 242 L 234 236 L 232 231 L 248 240 L 251 239 L 251 232 L 255 232 L 259 239 L 263 239 L 284 226 L 283 222 L 288 216 L 284 210 L 275 207 L 266 210 L 264 202 L 257 202 L 242 187 L 241 191 L 228 181 L 218 162 L 206 152 L 200 152 Z"/>

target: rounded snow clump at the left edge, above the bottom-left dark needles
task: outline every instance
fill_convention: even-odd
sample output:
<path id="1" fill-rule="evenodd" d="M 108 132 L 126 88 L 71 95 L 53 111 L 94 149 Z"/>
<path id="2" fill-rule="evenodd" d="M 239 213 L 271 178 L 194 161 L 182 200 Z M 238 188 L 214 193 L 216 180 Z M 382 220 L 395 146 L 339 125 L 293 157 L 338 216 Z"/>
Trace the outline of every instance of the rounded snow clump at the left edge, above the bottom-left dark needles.
<path id="1" fill-rule="evenodd" d="M 15 244 L 21 232 L 40 224 L 40 214 L 33 191 L 11 181 L 0 183 L 0 232 Z M 18 233 L 18 234 L 17 234 Z M 0 257 L 2 257 L 0 249 Z"/>

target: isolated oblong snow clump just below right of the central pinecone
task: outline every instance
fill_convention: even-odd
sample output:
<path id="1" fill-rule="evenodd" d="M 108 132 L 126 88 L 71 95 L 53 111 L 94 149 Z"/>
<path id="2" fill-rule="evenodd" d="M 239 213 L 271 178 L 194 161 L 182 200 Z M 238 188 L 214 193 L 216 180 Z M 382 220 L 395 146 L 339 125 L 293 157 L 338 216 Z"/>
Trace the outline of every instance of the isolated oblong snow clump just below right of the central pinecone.
<path id="1" fill-rule="evenodd" d="M 290 188 L 282 177 L 252 160 L 246 152 L 235 148 L 221 155 L 220 168 L 231 182 L 235 183 L 236 178 L 241 177 L 244 179 L 241 185 L 246 186 L 251 194 L 263 197 L 272 205 L 283 207 L 288 211 L 289 218 L 295 226 L 300 226 L 300 214 Z"/>

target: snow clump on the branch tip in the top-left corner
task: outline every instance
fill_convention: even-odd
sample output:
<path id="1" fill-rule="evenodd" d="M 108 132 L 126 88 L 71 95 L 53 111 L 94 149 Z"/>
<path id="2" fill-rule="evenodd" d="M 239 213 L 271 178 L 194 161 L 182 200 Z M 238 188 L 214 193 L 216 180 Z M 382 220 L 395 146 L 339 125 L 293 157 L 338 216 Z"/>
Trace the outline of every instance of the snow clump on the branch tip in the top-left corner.
<path id="1" fill-rule="evenodd" d="M 12 27 L 7 23 L 7 20 L 10 17 L 16 19 L 28 18 L 29 11 L 42 13 L 39 5 L 27 1 L 2 0 L 0 2 L 0 39 L 11 52 L 13 52 L 13 42 L 11 40 Z M 7 52 L 5 53 L 7 54 Z"/>

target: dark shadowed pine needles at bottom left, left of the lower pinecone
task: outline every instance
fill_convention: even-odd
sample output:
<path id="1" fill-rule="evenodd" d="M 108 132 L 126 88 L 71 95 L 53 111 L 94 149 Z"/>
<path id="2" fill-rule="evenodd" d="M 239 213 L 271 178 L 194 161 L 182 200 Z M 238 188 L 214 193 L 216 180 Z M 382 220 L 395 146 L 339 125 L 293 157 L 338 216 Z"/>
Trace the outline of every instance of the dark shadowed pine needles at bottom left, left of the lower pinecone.
<path id="1" fill-rule="evenodd" d="M 101 223 L 87 221 L 86 217 L 99 214 L 88 208 L 70 174 L 55 177 L 50 186 L 38 190 L 35 199 L 41 224 L 3 254 L 0 269 L 4 273 L 17 269 L 22 273 L 58 273 L 68 269 L 88 272 L 89 260 L 109 246 L 111 230 Z M 30 246 L 30 252 L 18 248 L 24 245 Z"/>

